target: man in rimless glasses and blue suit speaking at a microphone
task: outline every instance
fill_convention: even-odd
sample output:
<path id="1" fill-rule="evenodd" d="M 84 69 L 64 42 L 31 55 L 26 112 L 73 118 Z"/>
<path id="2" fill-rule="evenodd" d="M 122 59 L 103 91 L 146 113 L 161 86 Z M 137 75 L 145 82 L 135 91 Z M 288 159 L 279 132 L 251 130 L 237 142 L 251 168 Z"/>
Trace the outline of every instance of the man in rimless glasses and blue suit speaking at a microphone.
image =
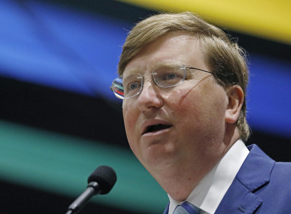
<path id="1" fill-rule="evenodd" d="M 222 30 L 189 12 L 149 17 L 118 72 L 129 145 L 168 193 L 164 214 L 291 213 L 289 163 L 243 143 L 248 69 Z"/>

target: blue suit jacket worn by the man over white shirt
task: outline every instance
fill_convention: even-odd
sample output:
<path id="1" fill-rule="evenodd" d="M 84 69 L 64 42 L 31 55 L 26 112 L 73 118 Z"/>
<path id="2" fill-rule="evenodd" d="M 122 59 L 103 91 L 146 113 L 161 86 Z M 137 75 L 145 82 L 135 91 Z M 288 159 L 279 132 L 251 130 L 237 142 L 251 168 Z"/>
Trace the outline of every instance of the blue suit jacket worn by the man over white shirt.
<path id="1" fill-rule="evenodd" d="M 255 144 L 248 149 L 215 214 L 291 213 L 291 163 L 275 162 Z"/>

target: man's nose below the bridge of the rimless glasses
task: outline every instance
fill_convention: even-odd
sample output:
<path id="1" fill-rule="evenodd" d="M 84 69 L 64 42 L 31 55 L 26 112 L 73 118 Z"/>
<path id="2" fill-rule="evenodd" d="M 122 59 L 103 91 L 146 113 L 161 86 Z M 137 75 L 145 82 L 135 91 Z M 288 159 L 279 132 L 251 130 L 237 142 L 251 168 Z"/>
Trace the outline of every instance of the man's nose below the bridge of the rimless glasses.
<path id="1" fill-rule="evenodd" d="M 142 91 L 140 92 L 137 99 L 137 106 L 142 112 L 150 111 L 153 108 L 162 107 L 161 95 L 152 78 L 148 79 L 147 81 L 145 80 Z"/>

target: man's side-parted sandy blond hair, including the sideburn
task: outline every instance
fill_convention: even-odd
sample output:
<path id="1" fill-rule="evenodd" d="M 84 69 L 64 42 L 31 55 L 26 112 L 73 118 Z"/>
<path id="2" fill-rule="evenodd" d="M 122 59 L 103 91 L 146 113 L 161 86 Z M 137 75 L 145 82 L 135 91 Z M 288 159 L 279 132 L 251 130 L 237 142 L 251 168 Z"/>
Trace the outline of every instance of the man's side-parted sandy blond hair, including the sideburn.
<path id="1" fill-rule="evenodd" d="M 221 29 L 191 12 L 153 15 L 137 23 L 129 32 L 123 45 L 118 64 L 119 75 L 122 75 L 129 60 L 146 44 L 171 32 L 186 32 L 195 35 L 200 41 L 206 64 L 215 73 L 217 83 L 223 87 L 239 85 L 246 98 L 249 71 L 245 51 L 235 41 L 230 40 Z M 246 122 L 246 99 L 243 101 L 236 126 L 245 142 L 250 134 Z"/>

